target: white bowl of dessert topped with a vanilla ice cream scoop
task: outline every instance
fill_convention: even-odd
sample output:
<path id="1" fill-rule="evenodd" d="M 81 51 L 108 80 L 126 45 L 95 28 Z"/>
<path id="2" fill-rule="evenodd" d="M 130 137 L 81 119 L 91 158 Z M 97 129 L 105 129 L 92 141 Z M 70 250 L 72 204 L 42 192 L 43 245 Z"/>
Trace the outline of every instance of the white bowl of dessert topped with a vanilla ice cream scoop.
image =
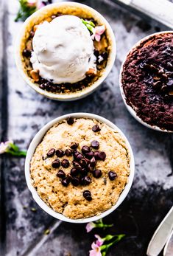
<path id="1" fill-rule="evenodd" d="M 54 100 L 77 100 L 107 77 L 116 57 L 113 31 L 84 4 L 50 4 L 18 36 L 15 60 L 29 86 Z"/>

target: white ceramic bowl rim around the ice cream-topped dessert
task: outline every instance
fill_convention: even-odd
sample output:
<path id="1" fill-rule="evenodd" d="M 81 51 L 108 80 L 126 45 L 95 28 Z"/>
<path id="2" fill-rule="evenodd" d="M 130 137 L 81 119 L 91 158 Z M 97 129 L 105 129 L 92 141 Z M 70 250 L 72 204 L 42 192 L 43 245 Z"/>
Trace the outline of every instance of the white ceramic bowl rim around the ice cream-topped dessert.
<path id="1" fill-rule="evenodd" d="M 90 13 L 96 21 L 99 21 L 100 24 L 105 24 L 106 31 L 108 38 L 110 40 L 111 49 L 110 49 L 110 55 L 107 60 L 107 66 L 105 67 L 105 70 L 101 77 L 99 77 L 96 82 L 93 83 L 92 86 L 89 86 L 82 91 L 77 91 L 75 93 L 69 93 L 69 94 L 55 94 L 49 91 L 45 91 L 39 88 L 39 86 L 35 83 L 32 83 L 32 80 L 29 78 L 27 73 L 24 71 L 23 63 L 21 60 L 21 45 L 24 44 L 22 42 L 22 38 L 25 37 L 25 33 L 28 27 L 31 27 L 30 24 L 34 24 L 34 21 L 36 18 L 39 17 L 39 15 L 43 15 L 43 13 L 49 12 L 52 10 L 52 8 L 56 8 L 57 12 L 60 10 L 60 8 L 66 8 L 66 7 L 71 7 L 74 10 L 75 9 L 80 9 L 80 10 L 85 10 L 85 12 Z M 21 32 L 18 34 L 18 38 L 16 40 L 15 44 L 15 63 L 16 66 L 18 67 L 18 71 L 20 72 L 21 76 L 24 78 L 24 80 L 27 82 L 29 86 L 31 86 L 32 89 L 35 89 L 39 94 L 42 94 L 45 97 L 49 97 L 52 100 L 62 100 L 62 101 L 68 101 L 68 100 L 78 100 L 82 97 L 87 96 L 88 94 L 91 94 L 93 91 L 99 88 L 99 86 L 102 84 L 102 82 L 105 80 L 107 75 L 110 73 L 110 70 L 113 67 L 113 63 L 116 58 L 116 39 L 115 35 L 113 34 L 113 30 L 110 27 L 110 24 L 106 21 L 106 19 L 98 13 L 96 10 L 94 10 L 91 7 L 88 7 L 85 4 L 80 4 L 80 3 L 75 3 L 71 1 L 65 1 L 65 2 L 58 2 L 55 4 L 49 4 L 46 7 L 41 8 L 40 10 L 36 11 L 33 13 L 27 20 L 24 22 L 23 27 L 21 29 Z"/>

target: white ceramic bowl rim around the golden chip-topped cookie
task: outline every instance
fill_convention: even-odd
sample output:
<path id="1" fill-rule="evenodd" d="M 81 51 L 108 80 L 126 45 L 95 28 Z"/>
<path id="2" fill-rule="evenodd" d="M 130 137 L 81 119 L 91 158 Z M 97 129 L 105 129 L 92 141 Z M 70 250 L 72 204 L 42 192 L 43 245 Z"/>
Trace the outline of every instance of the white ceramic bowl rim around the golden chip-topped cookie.
<path id="1" fill-rule="evenodd" d="M 62 215 L 58 212 L 54 212 L 54 210 L 52 210 L 52 208 L 49 207 L 40 198 L 40 196 L 38 196 L 37 191 L 32 186 L 32 179 L 30 176 L 30 161 L 32 159 L 32 155 L 35 153 L 35 149 L 37 148 L 38 144 L 43 139 L 43 136 L 46 134 L 46 131 L 48 131 L 49 128 L 52 127 L 52 125 L 54 125 L 57 122 L 61 122 L 62 120 L 66 120 L 66 118 L 69 116 L 76 117 L 76 118 L 84 117 L 84 118 L 95 119 L 100 122 L 105 122 L 107 125 L 109 125 L 114 130 L 119 131 L 119 134 L 121 134 L 121 136 L 124 138 L 124 140 L 127 144 L 127 148 L 129 149 L 129 152 L 130 152 L 130 176 L 128 179 L 128 183 L 126 184 L 126 186 L 124 187 L 124 190 L 122 191 L 121 195 L 119 196 L 119 200 L 109 210 L 102 212 L 101 215 L 96 215 L 96 216 L 93 216 L 90 218 L 71 219 L 71 218 L 65 217 L 64 215 Z M 88 223 L 90 221 L 96 221 L 99 218 L 103 218 L 106 215 L 113 212 L 114 210 L 116 210 L 116 208 L 119 207 L 119 205 L 122 203 L 122 201 L 124 201 L 124 198 L 126 198 L 127 194 L 129 193 L 130 187 L 132 186 L 132 183 L 133 183 L 134 173 L 135 173 L 135 162 L 134 162 L 133 151 L 132 151 L 132 148 L 130 147 L 130 143 L 128 142 L 128 140 L 124 136 L 124 134 L 121 132 L 121 130 L 119 128 L 117 128 L 117 126 L 114 125 L 113 122 L 110 122 L 109 120 L 105 119 L 104 117 L 100 117 L 100 116 L 97 116 L 96 114 L 88 114 L 88 113 L 66 114 L 61 117 L 57 117 L 54 120 L 52 120 L 51 122 L 44 125 L 43 128 L 41 128 L 40 131 L 38 131 L 38 134 L 35 135 L 34 139 L 32 139 L 32 142 L 30 143 L 29 149 L 27 151 L 27 157 L 26 157 L 26 162 L 25 162 L 25 177 L 27 180 L 27 186 L 32 193 L 32 197 L 35 199 L 35 201 L 38 203 L 38 205 L 49 215 L 52 215 L 54 218 L 57 218 L 57 219 L 60 219 L 62 221 L 66 221 L 66 222 L 76 223 L 76 224 Z"/>

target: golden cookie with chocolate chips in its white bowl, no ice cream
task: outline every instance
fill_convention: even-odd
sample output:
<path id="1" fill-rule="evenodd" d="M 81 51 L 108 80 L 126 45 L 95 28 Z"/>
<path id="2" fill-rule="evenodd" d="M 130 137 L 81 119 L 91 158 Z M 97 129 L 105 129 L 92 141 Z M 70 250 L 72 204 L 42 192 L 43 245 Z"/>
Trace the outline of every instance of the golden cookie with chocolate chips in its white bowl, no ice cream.
<path id="1" fill-rule="evenodd" d="M 63 221 L 88 222 L 121 204 L 133 181 L 134 162 L 116 126 L 92 114 L 71 114 L 40 133 L 29 146 L 26 178 L 43 210 Z"/>

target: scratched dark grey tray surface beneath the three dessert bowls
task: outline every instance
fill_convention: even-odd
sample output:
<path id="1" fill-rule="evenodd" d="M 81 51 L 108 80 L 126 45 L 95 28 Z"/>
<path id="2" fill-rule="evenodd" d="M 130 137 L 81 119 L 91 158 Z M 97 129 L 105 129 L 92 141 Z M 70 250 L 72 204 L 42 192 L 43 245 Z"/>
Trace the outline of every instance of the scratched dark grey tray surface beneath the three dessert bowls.
<path id="1" fill-rule="evenodd" d="M 136 41 L 166 28 L 153 22 L 148 24 L 111 1 L 82 2 L 99 10 L 113 27 L 116 63 L 98 91 L 77 102 L 60 103 L 38 95 L 18 74 L 13 56 L 15 37 L 21 28 L 20 22 L 14 22 L 18 1 L 4 1 L 1 131 L 4 138 L 15 139 L 21 148 L 27 148 L 46 122 L 62 114 L 86 111 L 118 125 L 132 145 L 136 172 L 127 199 L 105 218 L 105 222 L 114 224 L 110 232 L 126 234 L 124 241 L 113 246 L 108 255 L 143 256 L 152 233 L 172 206 L 173 138 L 171 134 L 145 128 L 130 116 L 121 100 L 119 69 Z M 40 210 L 27 189 L 24 159 L 1 158 L 1 207 L 0 255 L 88 255 L 94 232 L 88 235 L 85 225 L 57 221 Z M 46 229 L 50 229 L 49 235 L 44 235 Z"/>

